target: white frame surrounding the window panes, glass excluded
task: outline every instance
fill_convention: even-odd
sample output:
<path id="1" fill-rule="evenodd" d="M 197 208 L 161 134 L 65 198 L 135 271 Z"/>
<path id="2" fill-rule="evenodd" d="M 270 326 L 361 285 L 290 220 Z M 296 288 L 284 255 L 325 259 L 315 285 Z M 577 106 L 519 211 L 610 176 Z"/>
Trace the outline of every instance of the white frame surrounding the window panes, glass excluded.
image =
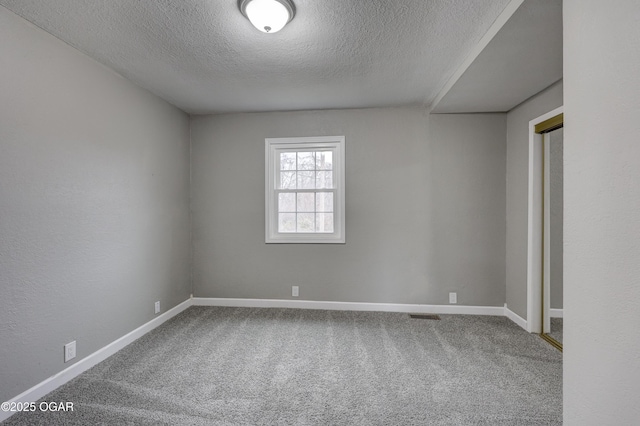
<path id="1" fill-rule="evenodd" d="M 345 243 L 345 138 L 315 136 L 265 139 L 265 242 L 268 244 L 344 244 Z M 326 150 L 333 156 L 335 193 L 332 233 L 278 232 L 278 200 L 276 196 L 277 155 L 281 151 Z"/>

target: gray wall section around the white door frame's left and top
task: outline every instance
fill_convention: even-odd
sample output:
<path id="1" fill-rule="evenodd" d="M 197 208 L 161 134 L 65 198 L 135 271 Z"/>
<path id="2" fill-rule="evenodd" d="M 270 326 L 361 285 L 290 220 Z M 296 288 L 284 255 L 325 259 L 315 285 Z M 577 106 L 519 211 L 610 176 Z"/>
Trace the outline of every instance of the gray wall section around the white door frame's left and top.
<path id="1" fill-rule="evenodd" d="M 529 121 L 562 106 L 562 83 L 540 92 L 507 113 L 506 301 L 527 318 L 527 209 Z"/>

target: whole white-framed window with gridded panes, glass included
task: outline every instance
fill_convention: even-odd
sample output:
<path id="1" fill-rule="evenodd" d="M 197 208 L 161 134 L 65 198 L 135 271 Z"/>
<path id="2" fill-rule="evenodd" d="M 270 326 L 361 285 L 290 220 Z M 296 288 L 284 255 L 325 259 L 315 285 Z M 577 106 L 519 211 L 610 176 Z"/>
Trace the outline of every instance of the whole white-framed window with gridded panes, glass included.
<path id="1" fill-rule="evenodd" d="M 344 243 L 344 136 L 265 145 L 266 242 Z"/>

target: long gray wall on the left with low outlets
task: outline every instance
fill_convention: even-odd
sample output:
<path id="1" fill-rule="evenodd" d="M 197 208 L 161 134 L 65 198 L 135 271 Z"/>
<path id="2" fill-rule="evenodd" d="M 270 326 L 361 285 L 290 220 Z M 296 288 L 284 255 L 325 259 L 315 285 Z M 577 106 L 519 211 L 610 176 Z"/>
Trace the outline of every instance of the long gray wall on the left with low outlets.
<path id="1" fill-rule="evenodd" d="M 0 7 L 0 401 L 186 300 L 189 121 Z"/>

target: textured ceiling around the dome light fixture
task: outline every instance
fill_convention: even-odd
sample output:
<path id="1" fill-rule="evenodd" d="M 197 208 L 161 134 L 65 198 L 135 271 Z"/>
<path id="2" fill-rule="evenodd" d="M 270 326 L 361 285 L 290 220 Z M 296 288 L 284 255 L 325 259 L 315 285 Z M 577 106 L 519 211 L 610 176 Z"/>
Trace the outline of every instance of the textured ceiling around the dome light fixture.
<path id="1" fill-rule="evenodd" d="M 509 0 L 294 0 L 263 34 L 237 0 L 0 0 L 190 113 L 428 104 Z"/>

